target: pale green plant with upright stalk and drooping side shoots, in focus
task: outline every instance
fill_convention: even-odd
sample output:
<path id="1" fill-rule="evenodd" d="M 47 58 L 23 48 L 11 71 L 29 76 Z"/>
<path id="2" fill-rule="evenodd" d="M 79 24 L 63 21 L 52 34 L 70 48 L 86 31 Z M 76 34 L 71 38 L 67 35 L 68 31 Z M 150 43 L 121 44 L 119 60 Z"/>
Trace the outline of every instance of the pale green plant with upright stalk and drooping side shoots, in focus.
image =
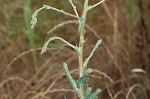
<path id="1" fill-rule="evenodd" d="M 77 80 L 73 79 L 73 77 L 71 76 L 71 74 L 68 70 L 68 66 L 66 63 L 63 64 L 63 67 L 64 67 L 64 71 L 66 73 L 66 76 L 67 76 L 70 84 L 72 85 L 73 89 L 75 90 L 76 94 L 78 95 L 78 97 L 80 99 L 97 99 L 98 94 L 101 92 L 100 89 L 97 89 L 95 92 L 91 93 L 92 88 L 89 87 L 89 85 L 87 84 L 87 81 L 89 80 L 87 75 L 92 72 L 92 69 L 91 68 L 88 69 L 87 66 L 88 66 L 90 58 L 93 56 L 96 49 L 102 43 L 102 40 L 97 41 L 97 43 L 96 43 L 95 47 L 93 48 L 93 50 L 91 51 L 90 55 L 85 60 L 83 60 L 83 47 L 86 43 L 84 34 L 86 32 L 85 24 L 86 24 L 87 14 L 90 10 L 94 9 L 95 7 L 97 7 L 98 5 L 103 3 L 104 1 L 105 0 L 101 0 L 94 5 L 89 5 L 89 0 L 84 0 L 84 7 L 83 7 L 82 15 L 78 14 L 76 6 L 74 5 L 72 0 L 69 0 L 69 3 L 71 4 L 75 14 L 68 13 L 64 10 L 57 9 L 57 8 L 49 6 L 49 5 L 43 5 L 43 7 L 36 10 L 32 15 L 31 28 L 34 28 L 34 26 L 36 25 L 38 12 L 40 12 L 43 9 L 54 10 L 54 11 L 57 11 L 64 15 L 68 15 L 68 16 L 73 17 L 78 20 L 78 23 L 79 23 L 78 33 L 80 34 L 78 46 L 72 45 L 71 43 L 67 42 L 66 40 L 64 40 L 61 37 L 50 37 L 47 40 L 47 42 L 44 44 L 41 54 L 46 52 L 49 42 L 51 42 L 53 40 L 60 40 L 63 44 L 67 45 L 68 47 L 71 47 L 72 49 L 74 49 L 77 52 L 78 60 L 79 60 L 79 67 L 78 67 L 79 78 Z"/>

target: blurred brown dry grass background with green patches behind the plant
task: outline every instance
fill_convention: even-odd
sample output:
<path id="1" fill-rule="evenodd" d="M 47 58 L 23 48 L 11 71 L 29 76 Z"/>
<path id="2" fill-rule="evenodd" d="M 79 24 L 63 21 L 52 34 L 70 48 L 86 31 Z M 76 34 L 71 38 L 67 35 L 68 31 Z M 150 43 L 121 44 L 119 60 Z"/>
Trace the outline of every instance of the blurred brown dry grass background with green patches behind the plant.
<path id="1" fill-rule="evenodd" d="M 83 1 L 73 0 L 79 14 Z M 76 52 L 54 41 L 40 54 L 52 36 L 78 44 L 77 21 L 42 10 L 32 30 L 32 13 L 44 4 L 74 14 L 68 0 L 0 0 L 0 99 L 78 99 L 62 66 L 77 78 Z M 99 99 L 150 99 L 150 0 L 106 0 L 88 13 L 85 37 L 84 58 L 103 40 L 89 63 Z"/>

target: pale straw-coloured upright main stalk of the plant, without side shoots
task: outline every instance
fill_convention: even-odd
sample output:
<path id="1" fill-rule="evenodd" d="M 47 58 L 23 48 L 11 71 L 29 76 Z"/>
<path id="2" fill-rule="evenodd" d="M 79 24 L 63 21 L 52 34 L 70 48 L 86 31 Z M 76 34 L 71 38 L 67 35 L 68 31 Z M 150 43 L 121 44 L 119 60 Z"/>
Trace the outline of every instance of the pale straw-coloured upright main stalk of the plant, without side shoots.
<path id="1" fill-rule="evenodd" d="M 84 40 L 84 33 L 85 33 L 85 22 L 86 22 L 86 16 L 87 16 L 87 12 L 88 12 L 88 2 L 89 0 L 85 0 L 84 1 L 84 9 L 83 9 L 83 13 L 82 13 L 82 18 L 84 20 L 81 21 L 80 23 L 80 41 L 79 41 L 79 50 L 80 50 L 80 54 L 79 54 L 79 68 L 80 68 L 80 77 L 82 77 L 83 75 L 83 46 L 84 46 L 84 43 L 85 43 L 85 40 Z M 84 99 L 84 89 L 83 89 L 83 86 L 80 87 L 80 99 Z"/>

